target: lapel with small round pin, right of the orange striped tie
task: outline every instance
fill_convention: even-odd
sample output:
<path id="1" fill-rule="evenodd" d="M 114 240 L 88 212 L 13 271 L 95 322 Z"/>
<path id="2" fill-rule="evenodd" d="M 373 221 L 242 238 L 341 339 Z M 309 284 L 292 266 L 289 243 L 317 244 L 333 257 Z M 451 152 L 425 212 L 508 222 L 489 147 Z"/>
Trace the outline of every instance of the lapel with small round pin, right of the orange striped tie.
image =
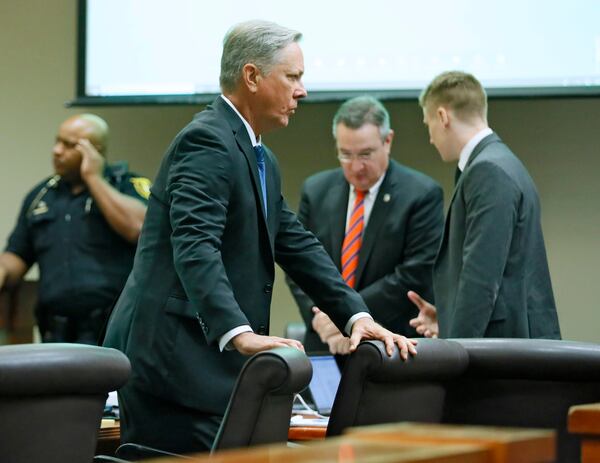
<path id="1" fill-rule="evenodd" d="M 383 182 L 381 182 L 377 197 L 373 203 L 373 209 L 371 210 L 371 215 L 369 216 L 369 222 L 367 223 L 367 227 L 363 232 L 363 241 L 360 247 L 360 253 L 358 255 L 358 268 L 356 269 L 356 288 L 360 287 L 360 278 L 363 274 L 365 266 L 367 265 L 367 262 L 369 261 L 369 257 L 371 256 L 371 251 L 373 250 L 373 245 L 375 244 L 377 234 L 382 224 L 385 222 L 385 218 L 387 217 L 390 209 L 390 204 L 394 200 L 395 184 L 396 179 L 394 176 L 394 167 L 392 161 L 390 160 L 390 165 L 385 174 L 385 178 L 383 179 Z M 384 200 L 384 198 L 387 200 Z"/>

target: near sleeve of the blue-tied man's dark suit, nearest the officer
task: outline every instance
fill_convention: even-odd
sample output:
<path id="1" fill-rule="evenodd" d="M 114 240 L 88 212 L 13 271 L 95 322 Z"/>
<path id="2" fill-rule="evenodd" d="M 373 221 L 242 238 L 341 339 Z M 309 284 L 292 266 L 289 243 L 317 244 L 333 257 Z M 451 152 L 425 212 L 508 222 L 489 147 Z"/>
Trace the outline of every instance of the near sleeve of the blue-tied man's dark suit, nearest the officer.
<path id="1" fill-rule="evenodd" d="M 218 134 L 196 129 L 180 139 L 169 170 L 175 270 L 193 303 L 190 307 L 210 320 L 209 343 L 250 324 L 235 300 L 221 256 L 232 169 L 231 154 Z"/>

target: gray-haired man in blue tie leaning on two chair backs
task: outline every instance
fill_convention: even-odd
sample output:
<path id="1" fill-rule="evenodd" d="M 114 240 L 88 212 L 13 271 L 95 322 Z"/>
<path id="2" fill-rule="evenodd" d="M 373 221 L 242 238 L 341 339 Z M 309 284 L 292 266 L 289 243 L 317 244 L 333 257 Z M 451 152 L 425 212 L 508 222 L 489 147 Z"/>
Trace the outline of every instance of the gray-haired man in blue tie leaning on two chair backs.
<path id="1" fill-rule="evenodd" d="M 415 352 L 373 322 L 281 196 L 261 135 L 288 124 L 302 85 L 301 34 L 251 21 L 225 37 L 223 95 L 167 150 L 151 190 L 134 268 L 105 345 L 127 354 L 119 391 L 122 440 L 180 453 L 211 447 L 248 355 L 293 340 L 268 336 L 274 261 L 307 289 L 351 348 L 383 340 Z"/>

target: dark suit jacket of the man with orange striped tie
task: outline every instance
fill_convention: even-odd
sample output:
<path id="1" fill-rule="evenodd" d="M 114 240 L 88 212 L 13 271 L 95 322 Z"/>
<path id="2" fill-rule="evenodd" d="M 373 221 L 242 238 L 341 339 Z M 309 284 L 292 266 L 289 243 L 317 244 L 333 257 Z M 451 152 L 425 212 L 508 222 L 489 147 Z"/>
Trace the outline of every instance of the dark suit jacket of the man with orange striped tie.
<path id="1" fill-rule="evenodd" d="M 342 169 L 320 172 L 304 182 L 298 212 L 338 268 L 349 192 Z M 390 160 L 364 231 L 356 274 L 356 290 L 375 320 L 389 330 L 415 334 L 408 321 L 418 311 L 406 296 L 409 289 L 433 300 L 432 267 L 444 226 L 443 206 L 435 181 Z M 288 284 L 307 326 L 305 347 L 326 349 L 311 326 L 315 303 L 289 278 Z"/>

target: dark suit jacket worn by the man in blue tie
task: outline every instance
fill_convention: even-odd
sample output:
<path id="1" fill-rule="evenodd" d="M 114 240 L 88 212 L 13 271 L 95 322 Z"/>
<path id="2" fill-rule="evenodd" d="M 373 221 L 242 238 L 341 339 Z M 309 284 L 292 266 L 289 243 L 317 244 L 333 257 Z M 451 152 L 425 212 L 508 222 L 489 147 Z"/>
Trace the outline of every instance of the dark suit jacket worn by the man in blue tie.
<path id="1" fill-rule="evenodd" d="M 265 162 L 266 219 L 248 133 L 222 98 L 172 142 L 104 343 L 131 360 L 128 386 L 223 414 L 246 357 L 218 340 L 246 324 L 268 333 L 274 261 L 340 327 L 368 311 L 288 209 L 272 153 Z"/>

